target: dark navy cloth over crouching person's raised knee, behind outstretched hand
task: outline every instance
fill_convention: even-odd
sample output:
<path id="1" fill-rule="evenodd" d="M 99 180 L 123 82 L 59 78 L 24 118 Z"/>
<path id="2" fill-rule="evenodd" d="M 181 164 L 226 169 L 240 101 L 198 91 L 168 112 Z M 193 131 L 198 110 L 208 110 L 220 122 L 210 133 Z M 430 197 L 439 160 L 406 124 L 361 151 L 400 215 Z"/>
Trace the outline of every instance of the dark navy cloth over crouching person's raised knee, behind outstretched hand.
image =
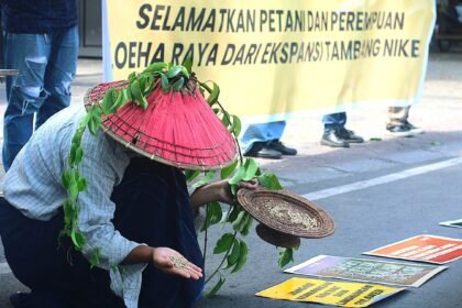
<path id="1" fill-rule="evenodd" d="M 118 205 L 116 229 L 150 246 L 168 246 L 202 266 L 183 174 L 147 158 L 132 160 L 111 197 Z M 160 272 L 150 264 L 143 272 L 140 308 L 189 307 L 204 280 L 193 282 Z"/>

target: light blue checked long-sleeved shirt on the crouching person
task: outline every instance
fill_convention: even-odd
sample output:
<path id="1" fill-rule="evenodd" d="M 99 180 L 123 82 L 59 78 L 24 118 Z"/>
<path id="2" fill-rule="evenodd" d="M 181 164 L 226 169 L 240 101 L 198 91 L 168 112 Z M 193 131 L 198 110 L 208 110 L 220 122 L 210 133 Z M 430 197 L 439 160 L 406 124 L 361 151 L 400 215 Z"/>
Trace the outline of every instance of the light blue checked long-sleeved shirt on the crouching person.
<path id="1" fill-rule="evenodd" d="M 80 106 L 56 113 L 33 134 L 14 160 L 4 177 L 4 197 L 24 216 L 50 220 L 66 199 L 61 176 L 69 156 L 72 138 L 84 114 Z M 110 196 L 122 179 L 131 153 L 101 131 L 97 136 L 85 132 L 82 148 L 80 175 L 88 180 L 87 190 L 78 198 L 79 229 L 87 237 L 82 253 L 88 258 L 96 248 L 100 248 L 98 266 L 110 270 L 140 245 L 123 238 L 111 222 L 116 205 Z M 123 297 L 128 307 L 138 306 L 141 274 L 145 266 L 124 266 L 123 278 L 120 272 L 110 271 L 111 288 Z"/>

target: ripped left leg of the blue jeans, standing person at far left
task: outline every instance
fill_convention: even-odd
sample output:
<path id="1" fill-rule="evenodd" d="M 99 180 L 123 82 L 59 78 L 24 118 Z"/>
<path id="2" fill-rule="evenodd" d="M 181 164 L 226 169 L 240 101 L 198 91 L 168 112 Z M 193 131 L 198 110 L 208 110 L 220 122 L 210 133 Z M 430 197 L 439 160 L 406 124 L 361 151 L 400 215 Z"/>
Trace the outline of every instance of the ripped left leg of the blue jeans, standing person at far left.
<path id="1" fill-rule="evenodd" d="M 47 34 L 6 33 L 6 68 L 18 69 L 7 77 L 8 106 L 3 120 L 3 166 L 8 170 L 34 130 L 34 113 L 48 97 L 44 78 L 51 52 Z"/>

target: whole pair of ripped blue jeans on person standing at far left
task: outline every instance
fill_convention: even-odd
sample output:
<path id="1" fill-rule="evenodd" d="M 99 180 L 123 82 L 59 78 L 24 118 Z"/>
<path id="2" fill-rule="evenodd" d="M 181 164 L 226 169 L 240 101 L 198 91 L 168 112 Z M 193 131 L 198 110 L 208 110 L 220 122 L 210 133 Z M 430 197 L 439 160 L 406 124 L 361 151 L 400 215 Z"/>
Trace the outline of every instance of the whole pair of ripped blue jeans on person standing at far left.
<path id="1" fill-rule="evenodd" d="M 19 69 L 18 76 L 7 78 L 2 153 L 6 170 L 34 129 L 69 106 L 77 56 L 77 26 L 44 34 L 6 33 L 6 68 Z"/>

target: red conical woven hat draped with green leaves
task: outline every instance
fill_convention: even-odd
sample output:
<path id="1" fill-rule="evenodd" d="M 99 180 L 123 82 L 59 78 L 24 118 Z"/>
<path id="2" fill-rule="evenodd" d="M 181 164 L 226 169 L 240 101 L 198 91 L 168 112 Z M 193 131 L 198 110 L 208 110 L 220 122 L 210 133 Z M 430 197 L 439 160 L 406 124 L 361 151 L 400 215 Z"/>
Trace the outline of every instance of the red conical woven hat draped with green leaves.
<path id="1" fill-rule="evenodd" d="M 110 88 L 121 89 L 127 87 L 127 85 L 128 81 L 122 80 L 100 84 L 90 88 L 85 96 L 86 108 L 88 109 L 94 103 L 99 103 L 106 91 Z M 204 100 L 204 98 L 201 99 Z M 142 129 L 138 128 L 136 125 L 140 123 L 145 125 L 146 121 L 145 119 L 138 122 L 133 120 L 136 119 L 136 117 L 140 119 L 140 114 L 143 114 L 144 112 L 141 107 L 133 103 L 125 105 L 119 109 L 116 114 L 103 117 L 101 129 L 109 136 L 123 144 L 125 147 L 163 164 L 173 165 L 179 168 L 199 170 L 220 169 L 229 166 L 238 157 L 238 145 L 235 140 L 205 100 L 204 102 L 194 101 L 193 103 L 193 107 L 198 107 L 200 109 L 196 113 L 205 119 L 200 118 L 198 123 L 188 123 L 187 129 L 180 128 L 179 124 L 175 123 L 174 119 L 162 121 L 161 117 L 158 117 L 157 119 L 160 123 L 155 122 L 155 119 L 152 121 L 155 122 L 155 125 L 161 128 L 166 127 L 166 130 L 168 130 L 172 135 L 172 140 L 166 140 L 160 130 L 154 133 L 146 133 L 143 131 L 145 127 Z M 188 105 L 189 108 L 193 108 L 191 106 Z M 151 106 L 148 109 L 148 116 L 156 112 L 155 106 Z M 202 116 L 202 113 L 206 114 Z M 206 128 L 204 128 L 205 120 L 208 121 L 208 125 Z M 168 125 L 166 125 L 166 123 Z M 151 129 L 152 128 L 153 125 L 151 125 Z M 154 127 L 154 129 L 156 128 Z M 209 133 L 209 131 L 210 136 L 206 135 L 206 138 L 202 139 L 195 138 L 195 134 L 200 133 L 202 136 Z M 196 140 L 200 140 L 201 142 L 196 142 Z M 180 144 L 182 142 L 184 144 Z"/>

